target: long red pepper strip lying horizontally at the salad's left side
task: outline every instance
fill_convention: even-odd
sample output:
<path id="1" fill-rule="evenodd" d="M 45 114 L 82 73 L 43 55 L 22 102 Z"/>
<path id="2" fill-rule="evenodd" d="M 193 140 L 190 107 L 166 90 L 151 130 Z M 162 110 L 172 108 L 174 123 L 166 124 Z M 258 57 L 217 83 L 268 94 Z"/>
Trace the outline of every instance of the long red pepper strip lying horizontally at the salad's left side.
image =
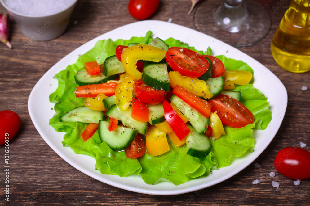
<path id="1" fill-rule="evenodd" d="M 75 88 L 74 94 L 76 97 L 96 97 L 99 94 L 113 96 L 116 86 L 116 82 L 78 86 Z"/>

